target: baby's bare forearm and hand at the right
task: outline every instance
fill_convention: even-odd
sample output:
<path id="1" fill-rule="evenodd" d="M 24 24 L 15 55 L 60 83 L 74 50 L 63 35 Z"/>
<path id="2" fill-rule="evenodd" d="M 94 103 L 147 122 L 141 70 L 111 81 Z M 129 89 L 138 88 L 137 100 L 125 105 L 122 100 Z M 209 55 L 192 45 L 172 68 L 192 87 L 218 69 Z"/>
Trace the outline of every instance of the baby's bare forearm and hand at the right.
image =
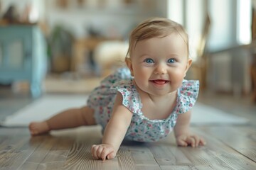
<path id="1" fill-rule="evenodd" d="M 177 123 L 174 127 L 177 145 L 183 147 L 188 145 L 191 145 L 192 147 L 206 145 L 206 141 L 202 137 L 191 134 L 189 130 L 190 120 L 191 111 L 178 115 Z"/>

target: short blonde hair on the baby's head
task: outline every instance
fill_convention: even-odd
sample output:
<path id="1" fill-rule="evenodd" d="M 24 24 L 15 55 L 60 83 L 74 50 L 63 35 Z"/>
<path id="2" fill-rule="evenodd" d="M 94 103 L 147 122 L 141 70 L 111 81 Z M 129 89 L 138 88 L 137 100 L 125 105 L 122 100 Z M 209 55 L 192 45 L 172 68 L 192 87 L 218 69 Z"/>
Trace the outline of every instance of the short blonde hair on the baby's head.
<path id="1" fill-rule="evenodd" d="M 181 38 L 186 43 L 188 52 L 188 34 L 181 24 L 167 18 L 149 18 L 132 30 L 129 37 L 129 48 L 126 57 L 132 54 L 132 50 L 136 47 L 137 42 L 149 38 L 164 38 L 171 33 L 181 35 Z"/>

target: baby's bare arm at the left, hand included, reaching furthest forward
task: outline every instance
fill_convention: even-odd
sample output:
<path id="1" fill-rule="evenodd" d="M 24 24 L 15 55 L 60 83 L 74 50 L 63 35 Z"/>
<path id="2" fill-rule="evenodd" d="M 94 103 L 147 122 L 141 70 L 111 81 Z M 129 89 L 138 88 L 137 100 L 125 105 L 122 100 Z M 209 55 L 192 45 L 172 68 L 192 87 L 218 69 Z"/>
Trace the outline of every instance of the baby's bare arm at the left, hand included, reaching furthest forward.
<path id="1" fill-rule="evenodd" d="M 132 120 L 132 113 L 122 105 L 122 95 L 117 94 L 114 103 L 113 113 L 105 132 L 101 145 L 92 145 L 92 156 L 96 159 L 112 159 L 124 140 L 124 135 Z"/>

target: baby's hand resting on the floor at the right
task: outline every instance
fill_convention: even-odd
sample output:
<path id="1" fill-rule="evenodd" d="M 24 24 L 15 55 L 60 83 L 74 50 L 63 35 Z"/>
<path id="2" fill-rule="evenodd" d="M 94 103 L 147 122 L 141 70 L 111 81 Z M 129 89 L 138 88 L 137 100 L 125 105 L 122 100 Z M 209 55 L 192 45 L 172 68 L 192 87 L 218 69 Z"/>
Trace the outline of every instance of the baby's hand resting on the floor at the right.
<path id="1" fill-rule="evenodd" d="M 179 135 L 176 137 L 176 142 L 178 146 L 187 147 L 198 147 L 198 145 L 206 145 L 206 141 L 203 137 L 198 137 L 197 135 Z"/>

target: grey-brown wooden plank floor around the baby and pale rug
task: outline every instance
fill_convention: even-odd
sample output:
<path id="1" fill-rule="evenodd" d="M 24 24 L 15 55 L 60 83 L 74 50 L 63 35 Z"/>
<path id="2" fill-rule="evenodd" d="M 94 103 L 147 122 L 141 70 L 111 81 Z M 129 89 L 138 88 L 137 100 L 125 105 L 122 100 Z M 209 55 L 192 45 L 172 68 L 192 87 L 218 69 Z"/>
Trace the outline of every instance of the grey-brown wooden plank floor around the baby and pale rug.
<path id="1" fill-rule="evenodd" d="M 90 154 L 102 139 L 99 126 L 31 137 L 26 128 L 0 128 L 0 169 L 256 169 L 256 106 L 248 98 L 210 96 L 202 102 L 252 120 L 247 125 L 193 126 L 204 147 L 176 147 L 173 133 L 155 143 L 123 142 L 117 157 L 102 162 Z M 0 118 L 31 103 L 27 95 L 0 91 Z"/>

